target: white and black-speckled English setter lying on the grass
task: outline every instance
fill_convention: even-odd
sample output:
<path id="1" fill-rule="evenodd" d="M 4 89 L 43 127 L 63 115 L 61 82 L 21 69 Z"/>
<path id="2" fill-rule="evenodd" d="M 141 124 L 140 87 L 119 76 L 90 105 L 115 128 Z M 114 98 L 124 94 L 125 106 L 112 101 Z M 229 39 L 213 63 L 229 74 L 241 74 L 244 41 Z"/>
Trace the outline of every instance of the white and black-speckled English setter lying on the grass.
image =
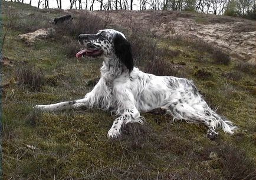
<path id="1" fill-rule="evenodd" d="M 81 34 L 78 39 L 83 50 L 76 54 L 77 58 L 102 56 L 104 59 L 99 82 L 83 99 L 36 105 L 35 109 L 52 112 L 84 106 L 112 110 L 118 117 L 108 132 L 111 138 L 120 136 L 122 126 L 127 123 L 142 124 L 144 118 L 140 112 L 156 108 L 165 109 L 173 120 L 203 123 L 208 127 L 206 136 L 210 139 L 218 135 L 218 128 L 229 134 L 236 129 L 232 122 L 209 108 L 192 81 L 146 74 L 135 68 L 131 46 L 122 32 L 104 29 L 97 34 Z"/>

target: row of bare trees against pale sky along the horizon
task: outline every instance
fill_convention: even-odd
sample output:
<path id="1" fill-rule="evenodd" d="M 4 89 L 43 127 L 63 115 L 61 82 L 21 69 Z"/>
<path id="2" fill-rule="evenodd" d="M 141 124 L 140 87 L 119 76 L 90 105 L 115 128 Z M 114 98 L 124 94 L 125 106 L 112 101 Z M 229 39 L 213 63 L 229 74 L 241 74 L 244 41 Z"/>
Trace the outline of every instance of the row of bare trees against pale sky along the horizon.
<path id="1" fill-rule="evenodd" d="M 11 0 L 15 2 L 24 2 L 24 0 Z M 49 0 L 37 0 L 38 8 L 49 8 Z M 31 5 L 31 1 L 29 2 Z M 61 0 L 57 0 L 50 8 L 61 9 Z M 204 14 L 238 16 L 241 18 L 256 20 L 256 6 L 253 0 L 70 0 L 70 9 L 88 9 L 93 10 L 134 10 L 139 7 L 140 10 L 171 10 L 171 11 L 192 11 Z M 137 10 L 137 9 L 136 9 Z M 31 19 L 34 21 L 34 19 Z"/>

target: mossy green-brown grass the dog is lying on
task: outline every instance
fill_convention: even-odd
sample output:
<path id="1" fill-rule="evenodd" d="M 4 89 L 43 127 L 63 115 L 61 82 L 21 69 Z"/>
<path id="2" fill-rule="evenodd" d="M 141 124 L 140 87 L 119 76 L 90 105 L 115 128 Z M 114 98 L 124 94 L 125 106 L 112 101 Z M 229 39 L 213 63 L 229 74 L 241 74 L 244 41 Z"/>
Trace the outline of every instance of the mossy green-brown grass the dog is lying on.
<path id="1" fill-rule="evenodd" d="M 11 8 L 8 5 L 19 14 L 37 12 L 49 19 L 63 14 L 4 2 L 7 10 Z M 77 109 L 53 114 L 32 109 L 36 104 L 82 98 L 99 78 L 102 60 L 77 61 L 72 56 L 74 52 L 68 51 L 70 46 L 54 38 L 27 46 L 17 39 L 25 31 L 11 28 L 3 49 L 14 62 L 14 66 L 3 69 L 2 83 L 9 84 L 2 92 L 4 179 L 255 178 L 255 74 L 250 66 L 235 59 L 228 65 L 215 63 L 212 48 L 201 48 L 204 45 L 198 42 L 188 46 L 182 39 L 149 38 L 146 46 L 138 38 L 139 32 L 137 36 L 128 35 L 129 40 L 139 39 L 132 42 L 139 68 L 153 71 L 147 59 L 156 54 L 153 60 L 163 68 L 160 72 L 193 79 L 208 104 L 218 107 L 217 112 L 233 121 L 239 132 L 230 136 L 220 131 L 219 138 L 210 141 L 204 136 L 204 125 L 172 123 L 171 116 L 142 114 L 145 125 L 129 124 L 120 139 L 111 140 L 107 131 L 114 117 L 109 112 Z M 68 35 L 68 39 L 75 42 L 76 36 Z M 145 55 L 140 56 L 142 53 Z M 15 78 L 18 69 L 29 67 L 41 71 L 44 83 L 40 84 L 40 91 L 31 88 L 30 83 L 37 70 L 29 71 L 32 78 L 26 84 L 19 83 L 18 78 L 26 80 L 27 76 Z M 202 73 L 203 79 L 201 74 L 195 75 L 199 70 L 207 72 Z M 231 72 L 239 72 L 239 76 Z M 217 158 L 209 157 L 212 152 Z"/>

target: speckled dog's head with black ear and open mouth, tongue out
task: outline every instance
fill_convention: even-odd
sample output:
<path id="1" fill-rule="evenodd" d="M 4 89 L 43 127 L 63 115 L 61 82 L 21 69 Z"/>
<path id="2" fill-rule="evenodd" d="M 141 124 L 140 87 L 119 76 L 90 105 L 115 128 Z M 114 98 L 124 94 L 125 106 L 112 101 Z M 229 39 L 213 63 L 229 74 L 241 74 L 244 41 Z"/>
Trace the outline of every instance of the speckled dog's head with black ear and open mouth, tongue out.
<path id="1" fill-rule="evenodd" d="M 77 58 L 81 56 L 118 58 L 129 71 L 132 71 L 132 49 L 122 32 L 114 29 L 104 29 L 97 34 L 81 34 L 78 39 L 83 49 L 77 52 Z"/>

